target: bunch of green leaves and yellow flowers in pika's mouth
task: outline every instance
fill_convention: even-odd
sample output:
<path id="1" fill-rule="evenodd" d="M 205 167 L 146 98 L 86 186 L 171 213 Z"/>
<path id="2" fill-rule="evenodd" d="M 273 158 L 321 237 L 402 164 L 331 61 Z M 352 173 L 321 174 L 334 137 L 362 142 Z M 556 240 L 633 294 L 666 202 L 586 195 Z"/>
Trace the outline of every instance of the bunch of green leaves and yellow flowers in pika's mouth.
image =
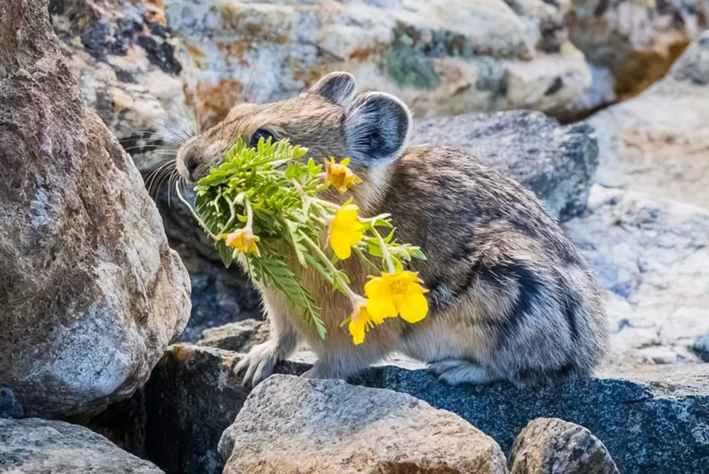
<path id="1" fill-rule="evenodd" d="M 420 248 L 396 241 L 389 214 L 364 218 L 352 199 L 343 205 L 320 199 L 323 189 L 332 186 L 344 193 L 362 180 L 347 167 L 348 158 L 325 160 L 323 171 L 313 158 L 298 160 L 306 153 L 288 140 L 261 138 L 257 148 L 249 148 L 240 139 L 222 164 L 196 184 L 194 208 L 179 188 L 177 194 L 215 241 L 224 265 L 241 255 L 250 277 L 281 291 L 321 338 L 326 331 L 318 307 L 284 260 L 284 246 L 299 265 L 313 268 L 350 298 L 352 313 L 343 315 L 342 326 L 348 325 L 354 344 L 364 342 L 365 332 L 384 319 L 401 316 L 415 323 L 425 318 L 428 290 L 417 273 L 403 269 L 411 258 L 425 259 Z M 389 232 L 380 233 L 382 228 Z M 364 295 L 337 268 L 353 255 L 374 273 Z"/>

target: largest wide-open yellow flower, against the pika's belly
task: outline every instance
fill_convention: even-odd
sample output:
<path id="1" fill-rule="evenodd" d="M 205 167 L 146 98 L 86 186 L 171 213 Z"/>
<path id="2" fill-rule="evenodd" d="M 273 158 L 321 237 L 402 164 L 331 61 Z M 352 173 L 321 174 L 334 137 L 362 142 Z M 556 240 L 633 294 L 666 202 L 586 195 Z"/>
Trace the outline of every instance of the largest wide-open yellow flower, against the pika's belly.
<path id="1" fill-rule="evenodd" d="M 419 283 L 418 273 L 403 271 L 384 273 L 373 277 L 364 285 L 364 295 L 369 299 L 367 309 L 373 317 L 384 319 L 401 315 L 404 321 L 415 323 L 428 314 L 428 292 Z"/>

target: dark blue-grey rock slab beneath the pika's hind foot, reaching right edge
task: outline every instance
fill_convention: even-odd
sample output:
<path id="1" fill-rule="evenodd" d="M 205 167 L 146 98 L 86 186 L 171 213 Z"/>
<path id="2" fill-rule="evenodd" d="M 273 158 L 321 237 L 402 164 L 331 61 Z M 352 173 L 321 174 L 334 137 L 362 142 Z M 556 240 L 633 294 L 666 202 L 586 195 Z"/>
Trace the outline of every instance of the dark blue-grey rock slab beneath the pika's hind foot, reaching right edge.
<path id="1" fill-rule="evenodd" d="M 379 386 L 459 414 L 503 450 L 530 420 L 555 417 L 598 436 L 622 473 L 701 472 L 709 456 L 708 366 L 599 375 L 603 378 L 525 390 L 498 384 L 444 387 L 423 371 L 386 368 Z"/>

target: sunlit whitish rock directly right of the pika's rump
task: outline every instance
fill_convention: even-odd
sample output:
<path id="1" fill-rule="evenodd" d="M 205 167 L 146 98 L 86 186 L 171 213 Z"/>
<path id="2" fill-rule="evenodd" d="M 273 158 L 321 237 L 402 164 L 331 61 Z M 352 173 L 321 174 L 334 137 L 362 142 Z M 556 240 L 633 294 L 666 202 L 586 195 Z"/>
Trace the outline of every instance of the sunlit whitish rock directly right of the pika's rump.
<path id="1" fill-rule="evenodd" d="M 611 292 L 613 348 L 642 363 L 696 361 L 709 333 L 709 209 L 594 186 L 565 224 Z"/>

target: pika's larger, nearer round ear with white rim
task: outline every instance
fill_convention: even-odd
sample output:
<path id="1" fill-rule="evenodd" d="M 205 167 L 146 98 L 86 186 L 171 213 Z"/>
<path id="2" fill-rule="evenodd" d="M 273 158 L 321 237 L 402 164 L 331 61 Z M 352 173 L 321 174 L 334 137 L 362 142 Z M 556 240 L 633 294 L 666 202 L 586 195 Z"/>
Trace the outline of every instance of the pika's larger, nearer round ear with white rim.
<path id="1" fill-rule="evenodd" d="M 360 94 L 345 114 L 345 149 L 364 163 L 398 158 L 411 134 L 411 111 L 384 92 Z"/>

